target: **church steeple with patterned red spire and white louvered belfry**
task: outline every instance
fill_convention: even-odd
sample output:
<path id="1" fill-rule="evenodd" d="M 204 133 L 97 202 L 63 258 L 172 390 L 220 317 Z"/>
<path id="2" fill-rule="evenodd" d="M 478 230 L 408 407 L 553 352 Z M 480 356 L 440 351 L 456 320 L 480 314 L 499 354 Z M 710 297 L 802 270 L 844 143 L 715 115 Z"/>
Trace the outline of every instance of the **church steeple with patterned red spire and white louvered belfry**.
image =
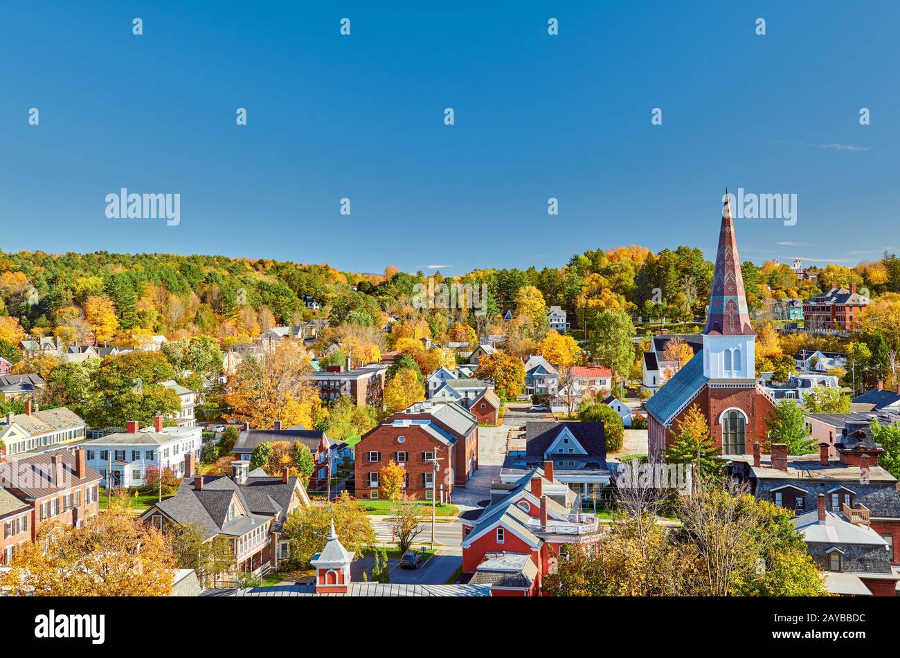
<path id="1" fill-rule="evenodd" d="M 756 377 L 756 334 L 750 324 L 743 290 L 741 259 L 727 189 L 707 326 L 703 330 L 703 374 L 709 379 Z"/>

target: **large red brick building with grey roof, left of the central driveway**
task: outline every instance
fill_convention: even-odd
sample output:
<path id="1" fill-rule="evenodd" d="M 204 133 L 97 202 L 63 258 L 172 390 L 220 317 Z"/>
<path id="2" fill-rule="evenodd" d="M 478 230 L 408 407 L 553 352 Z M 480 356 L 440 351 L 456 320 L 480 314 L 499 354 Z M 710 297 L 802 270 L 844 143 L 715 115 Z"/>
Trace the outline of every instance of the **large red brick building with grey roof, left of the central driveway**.
<path id="1" fill-rule="evenodd" d="M 417 403 L 368 431 L 355 453 L 357 498 L 379 498 L 380 471 L 394 461 L 406 469 L 407 495 L 449 500 L 478 467 L 478 421 L 459 405 Z"/>

